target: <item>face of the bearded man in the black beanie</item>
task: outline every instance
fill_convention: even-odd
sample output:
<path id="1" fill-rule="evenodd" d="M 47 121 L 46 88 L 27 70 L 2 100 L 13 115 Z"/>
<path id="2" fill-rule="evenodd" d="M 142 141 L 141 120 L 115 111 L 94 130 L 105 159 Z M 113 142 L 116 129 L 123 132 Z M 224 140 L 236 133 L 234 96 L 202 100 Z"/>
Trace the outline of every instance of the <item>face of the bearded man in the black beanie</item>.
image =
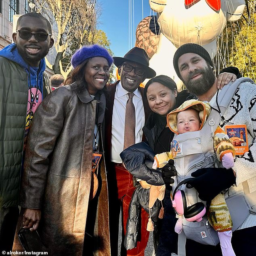
<path id="1" fill-rule="evenodd" d="M 216 80 L 212 67 L 196 53 L 181 55 L 178 59 L 178 69 L 189 92 L 198 97 L 208 92 Z"/>

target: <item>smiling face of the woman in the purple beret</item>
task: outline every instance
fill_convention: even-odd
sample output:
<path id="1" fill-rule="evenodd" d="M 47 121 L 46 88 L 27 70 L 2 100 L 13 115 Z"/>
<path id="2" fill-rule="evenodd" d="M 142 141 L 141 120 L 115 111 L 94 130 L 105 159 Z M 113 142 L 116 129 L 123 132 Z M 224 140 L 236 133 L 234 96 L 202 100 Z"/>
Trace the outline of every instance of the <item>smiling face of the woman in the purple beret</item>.
<path id="1" fill-rule="evenodd" d="M 87 90 L 95 95 L 102 90 L 109 80 L 109 63 L 103 57 L 91 58 L 84 68 L 84 79 L 87 83 Z"/>

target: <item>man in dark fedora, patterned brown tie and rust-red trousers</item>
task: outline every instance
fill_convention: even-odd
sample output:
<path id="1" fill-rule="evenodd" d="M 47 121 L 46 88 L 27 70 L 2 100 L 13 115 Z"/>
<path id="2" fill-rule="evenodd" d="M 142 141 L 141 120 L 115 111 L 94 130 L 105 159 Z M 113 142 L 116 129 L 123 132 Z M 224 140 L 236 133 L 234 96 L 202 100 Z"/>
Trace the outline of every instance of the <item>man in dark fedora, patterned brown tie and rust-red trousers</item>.
<path id="1" fill-rule="evenodd" d="M 124 57 L 113 57 L 118 67 L 120 80 L 107 86 L 106 96 L 106 162 L 108 164 L 108 187 L 110 209 L 111 255 L 118 255 L 118 224 L 122 209 L 122 238 L 126 231 L 128 208 L 134 191 L 132 175 L 122 165 L 120 153 L 130 145 L 142 141 L 142 128 L 150 113 L 147 98 L 140 84 L 146 78 L 153 78 L 155 71 L 149 67 L 149 57 L 145 50 L 134 47 Z M 126 251 L 123 243 L 122 255 L 143 256 L 149 232 L 148 216 L 141 212 L 141 237 L 136 248 Z M 122 241 L 123 241 L 122 239 Z"/>

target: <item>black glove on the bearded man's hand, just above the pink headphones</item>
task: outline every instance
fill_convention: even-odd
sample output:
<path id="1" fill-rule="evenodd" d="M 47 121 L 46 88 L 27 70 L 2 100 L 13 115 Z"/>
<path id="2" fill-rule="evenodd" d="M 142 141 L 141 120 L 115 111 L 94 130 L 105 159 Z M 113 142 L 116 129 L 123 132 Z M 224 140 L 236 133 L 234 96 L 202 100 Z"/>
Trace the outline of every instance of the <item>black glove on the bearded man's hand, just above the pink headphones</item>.
<path id="1" fill-rule="evenodd" d="M 202 201 L 212 200 L 218 193 L 235 184 L 235 174 L 231 168 L 202 168 L 192 172 L 191 176 L 195 178 L 186 187 L 194 187 Z"/>

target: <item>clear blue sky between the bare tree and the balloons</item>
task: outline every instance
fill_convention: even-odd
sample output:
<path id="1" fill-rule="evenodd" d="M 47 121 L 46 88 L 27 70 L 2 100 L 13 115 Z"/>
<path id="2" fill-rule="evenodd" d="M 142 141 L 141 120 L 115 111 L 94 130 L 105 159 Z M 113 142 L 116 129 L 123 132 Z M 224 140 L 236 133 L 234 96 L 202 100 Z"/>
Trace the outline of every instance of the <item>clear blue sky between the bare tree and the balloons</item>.
<path id="1" fill-rule="evenodd" d="M 98 29 L 105 31 L 114 56 L 123 57 L 135 46 L 136 27 L 149 15 L 153 15 L 149 0 L 101 0 Z M 131 17 L 130 22 L 129 17 Z M 131 23 L 131 31 L 129 31 L 129 23 Z"/>

